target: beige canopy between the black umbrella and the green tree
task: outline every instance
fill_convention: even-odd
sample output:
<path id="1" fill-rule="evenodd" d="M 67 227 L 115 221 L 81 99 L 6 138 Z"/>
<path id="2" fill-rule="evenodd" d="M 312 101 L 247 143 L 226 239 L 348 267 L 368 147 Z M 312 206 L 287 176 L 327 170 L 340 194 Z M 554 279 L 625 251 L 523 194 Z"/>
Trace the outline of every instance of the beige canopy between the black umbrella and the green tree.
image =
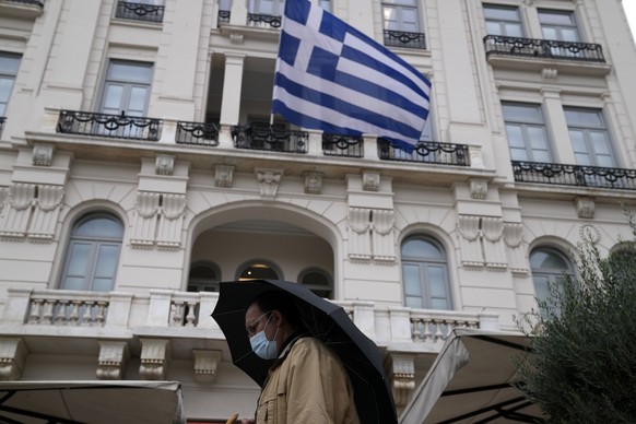
<path id="1" fill-rule="evenodd" d="M 539 407 L 513 386 L 514 357 L 530 354 L 530 342 L 518 333 L 455 330 L 400 423 L 542 422 Z"/>

